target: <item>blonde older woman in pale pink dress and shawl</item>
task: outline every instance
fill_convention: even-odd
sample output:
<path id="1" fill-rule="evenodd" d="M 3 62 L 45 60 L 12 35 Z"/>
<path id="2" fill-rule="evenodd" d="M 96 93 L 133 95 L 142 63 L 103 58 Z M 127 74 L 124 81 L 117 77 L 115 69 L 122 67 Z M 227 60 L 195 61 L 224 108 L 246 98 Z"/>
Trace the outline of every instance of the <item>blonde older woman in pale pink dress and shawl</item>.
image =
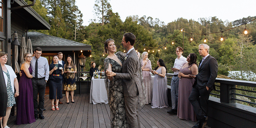
<path id="1" fill-rule="evenodd" d="M 142 76 L 143 76 L 143 82 L 146 90 L 146 104 L 151 103 L 152 100 L 152 85 L 151 85 L 151 61 L 147 58 L 148 53 L 144 51 L 142 53 L 142 62 L 141 62 L 141 69 L 142 69 Z"/>

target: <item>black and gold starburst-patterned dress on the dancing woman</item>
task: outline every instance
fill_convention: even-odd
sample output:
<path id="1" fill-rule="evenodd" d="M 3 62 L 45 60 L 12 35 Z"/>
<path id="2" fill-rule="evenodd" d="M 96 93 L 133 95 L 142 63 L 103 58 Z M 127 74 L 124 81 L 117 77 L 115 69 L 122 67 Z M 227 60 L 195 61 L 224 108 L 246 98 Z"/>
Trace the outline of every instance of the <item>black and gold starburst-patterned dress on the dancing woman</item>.
<path id="1" fill-rule="evenodd" d="M 122 52 L 116 52 L 116 56 L 121 63 L 124 62 L 124 54 Z M 122 73 L 122 66 L 113 59 L 104 59 L 104 71 L 108 69 L 109 64 L 112 65 L 112 71 Z M 108 94 L 109 108 L 110 108 L 110 122 L 111 128 L 128 128 L 128 121 L 125 115 L 124 95 L 123 95 L 123 83 L 122 79 L 108 80 L 105 75 L 105 85 Z"/>

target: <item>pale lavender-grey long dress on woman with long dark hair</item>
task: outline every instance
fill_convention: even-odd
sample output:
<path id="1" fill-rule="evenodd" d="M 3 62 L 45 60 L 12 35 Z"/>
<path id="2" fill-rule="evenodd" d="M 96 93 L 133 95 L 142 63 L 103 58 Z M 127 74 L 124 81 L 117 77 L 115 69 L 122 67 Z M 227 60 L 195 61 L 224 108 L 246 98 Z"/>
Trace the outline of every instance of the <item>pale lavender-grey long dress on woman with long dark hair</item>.
<path id="1" fill-rule="evenodd" d="M 162 67 L 164 68 L 164 67 Z M 156 70 L 156 72 L 162 74 L 162 68 Z M 153 83 L 153 98 L 151 102 L 152 108 L 167 108 L 167 77 L 164 78 L 155 74 Z"/>

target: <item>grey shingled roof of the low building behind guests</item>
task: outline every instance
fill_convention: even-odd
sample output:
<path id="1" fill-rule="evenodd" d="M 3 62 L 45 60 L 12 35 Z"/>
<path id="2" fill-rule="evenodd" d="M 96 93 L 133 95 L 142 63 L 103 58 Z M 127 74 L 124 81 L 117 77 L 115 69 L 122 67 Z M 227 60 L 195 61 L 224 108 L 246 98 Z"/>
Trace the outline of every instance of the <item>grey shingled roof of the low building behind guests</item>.
<path id="1" fill-rule="evenodd" d="M 31 39 L 33 50 L 36 47 L 42 48 L 43 51 L 91 51 L 92 49 L 91 45 L 38 32 L 28 32 L 28 37 Z"/>

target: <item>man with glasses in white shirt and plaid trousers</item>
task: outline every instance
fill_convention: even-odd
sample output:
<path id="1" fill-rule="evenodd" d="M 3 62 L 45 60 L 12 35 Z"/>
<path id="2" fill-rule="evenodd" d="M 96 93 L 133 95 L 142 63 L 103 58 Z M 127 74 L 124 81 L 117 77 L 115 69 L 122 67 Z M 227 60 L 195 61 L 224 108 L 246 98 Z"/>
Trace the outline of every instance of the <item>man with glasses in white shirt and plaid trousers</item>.
<path id="1" fill-rule="evenodd" d="M 169 114 L 177 114 L 178 107 L 178 92 L 179 92 L 179 69 L 183 66 L 184 63 L 187 62 L 187 58 L 182 56 L 183 48 L 176 48 L 176 55 L 178 56 L 175 59 L 172 71 L 174 71 L 174 75 L 171 82 L 171 98 L 172 98 L 172 109 L 167 111 Z"/>

